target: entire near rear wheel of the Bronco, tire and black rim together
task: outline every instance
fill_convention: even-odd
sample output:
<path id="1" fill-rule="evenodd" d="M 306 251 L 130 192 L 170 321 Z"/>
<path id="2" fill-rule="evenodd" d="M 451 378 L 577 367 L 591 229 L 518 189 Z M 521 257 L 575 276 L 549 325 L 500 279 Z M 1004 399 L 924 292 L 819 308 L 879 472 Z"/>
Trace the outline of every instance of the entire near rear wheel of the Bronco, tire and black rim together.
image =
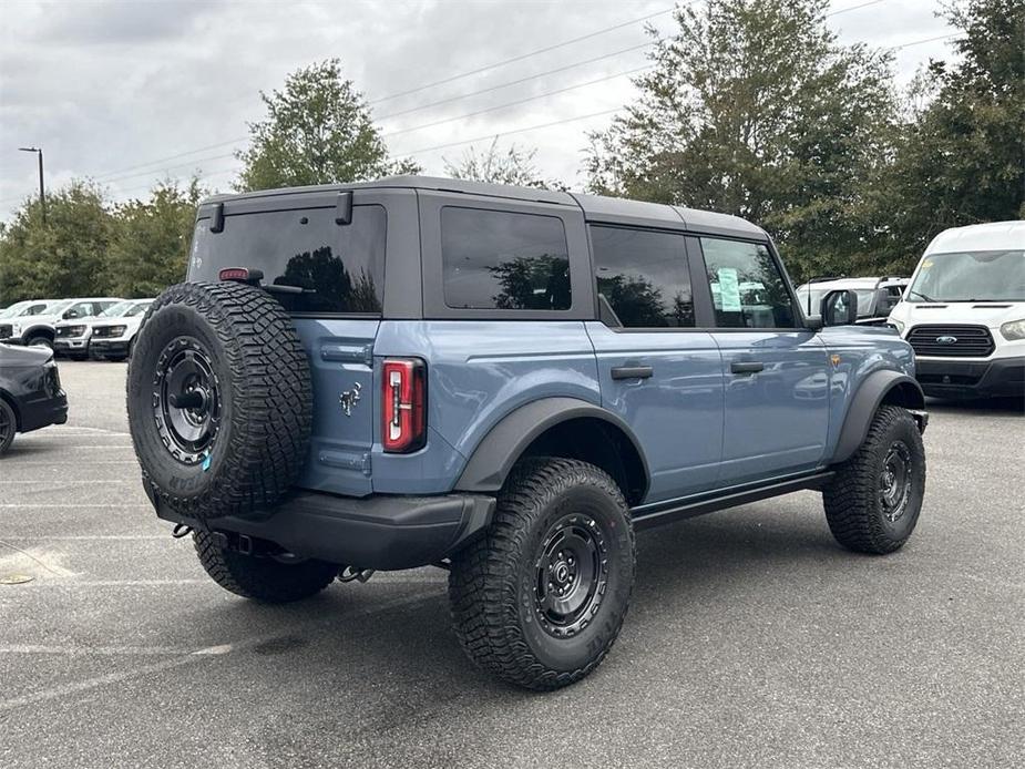
<path id="1" fill-rule="evenodd" d="M 616 483 L 576 460 L 521 462 L 485 536 L 452 558 L 455 635 L 482 669 L 529 689 L 584 678 L 608 653 L 634 585 Z"/>

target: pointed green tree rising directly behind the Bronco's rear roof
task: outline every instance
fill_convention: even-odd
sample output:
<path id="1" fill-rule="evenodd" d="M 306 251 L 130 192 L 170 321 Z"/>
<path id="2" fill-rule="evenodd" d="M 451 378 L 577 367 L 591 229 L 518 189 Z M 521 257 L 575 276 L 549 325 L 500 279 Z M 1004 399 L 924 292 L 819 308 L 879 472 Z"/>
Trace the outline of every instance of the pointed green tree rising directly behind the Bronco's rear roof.
<path id="1" fill-rule="evenodd" d="M 411 161 L 392 162 L 370 107 L 337 59 L 293 72 L 283 91 L 260 92 L 267 117 L 249 123 L 250 144 L 239 191 L 358 182 L 416 173 Z"/>

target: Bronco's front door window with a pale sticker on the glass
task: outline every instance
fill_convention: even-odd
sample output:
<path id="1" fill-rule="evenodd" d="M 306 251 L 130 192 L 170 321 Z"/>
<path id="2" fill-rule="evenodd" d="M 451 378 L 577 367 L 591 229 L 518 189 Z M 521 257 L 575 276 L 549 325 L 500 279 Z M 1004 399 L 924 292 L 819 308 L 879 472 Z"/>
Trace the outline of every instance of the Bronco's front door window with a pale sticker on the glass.
<path id="1" fill-rule="evenodd" d="M 701 250 L 720 328 L 793 328 L 793 303 L 769 249 L 703 237 Z"/>

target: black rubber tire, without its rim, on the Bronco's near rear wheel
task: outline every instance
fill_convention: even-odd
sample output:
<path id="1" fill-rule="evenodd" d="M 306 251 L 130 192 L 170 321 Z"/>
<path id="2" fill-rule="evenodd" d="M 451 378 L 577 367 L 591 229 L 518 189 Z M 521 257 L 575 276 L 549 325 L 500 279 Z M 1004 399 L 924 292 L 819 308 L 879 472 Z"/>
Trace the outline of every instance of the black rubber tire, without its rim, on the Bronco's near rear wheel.
<path id="1" fill-rule="evenodd" d="M 607 583 L 590 623 L 556 638 L 534 607 L 535 562 L 549 527 L 586 513 L 607 545 Z M 519 463 L 499 493 L 485 535 L 452 558 L 452 623 L 482 669 L 529 689 L 556 689 L 584 678 L 608 653 L 629 605 L 634 532 L 623 492 L 598 468 L 568 459 Z"/>

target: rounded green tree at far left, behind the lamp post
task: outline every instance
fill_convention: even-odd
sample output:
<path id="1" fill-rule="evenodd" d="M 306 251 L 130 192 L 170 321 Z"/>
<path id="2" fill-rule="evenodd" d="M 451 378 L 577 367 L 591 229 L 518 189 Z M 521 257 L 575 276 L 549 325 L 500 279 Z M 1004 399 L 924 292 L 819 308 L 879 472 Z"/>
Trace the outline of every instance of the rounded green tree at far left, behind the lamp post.
<path id="1" fill-rule="evenodd" d="M 21 299 L 110 293 L 114 218 L 95 185 L 75 181 L 27 202 L 0 235 L 0 306 Z"/>

